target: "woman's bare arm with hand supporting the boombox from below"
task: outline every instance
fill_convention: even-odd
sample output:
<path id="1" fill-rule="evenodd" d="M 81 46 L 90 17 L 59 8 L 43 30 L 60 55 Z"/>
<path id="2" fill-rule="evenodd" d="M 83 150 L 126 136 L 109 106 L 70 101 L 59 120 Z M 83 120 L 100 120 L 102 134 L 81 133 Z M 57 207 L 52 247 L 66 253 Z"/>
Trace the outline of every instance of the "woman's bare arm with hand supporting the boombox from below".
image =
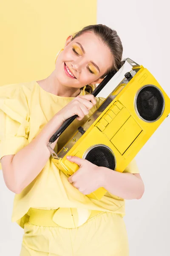
<path id="1" fill-rule="evenodd" d="M 68 181 L 84 195 L 100 187 L 124 199 L 139 199 L 144 193 L 144 183 L 138 173 L 116 172 L 76 156 L 67 156 L 67 159 L 79 165 Z"/>

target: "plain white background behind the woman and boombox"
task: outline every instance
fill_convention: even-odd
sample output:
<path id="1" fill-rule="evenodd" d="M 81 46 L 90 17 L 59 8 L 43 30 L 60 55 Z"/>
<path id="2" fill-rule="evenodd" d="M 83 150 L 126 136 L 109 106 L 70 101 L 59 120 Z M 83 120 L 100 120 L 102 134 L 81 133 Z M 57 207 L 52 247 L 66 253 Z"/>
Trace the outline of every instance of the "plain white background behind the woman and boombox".
<path id="1" fill-rule="evenodd" d="M 97 23 L 117 31 L 124 47 L 123 58 L 146 67 L 170 97 L 169 1 L 98 0 Z M 136 156 L 145 192 L 140 200 L 126 200 L 124 219 L 130 256 L 170 255 L 169 131 L 170 116 Z M 6 188 L 2 172 L 0 195 L 0 255 L 11 255 L 12 248 L 12 255 L 19 256 L 23 229 L 11 223 L 14 194 Z"/>

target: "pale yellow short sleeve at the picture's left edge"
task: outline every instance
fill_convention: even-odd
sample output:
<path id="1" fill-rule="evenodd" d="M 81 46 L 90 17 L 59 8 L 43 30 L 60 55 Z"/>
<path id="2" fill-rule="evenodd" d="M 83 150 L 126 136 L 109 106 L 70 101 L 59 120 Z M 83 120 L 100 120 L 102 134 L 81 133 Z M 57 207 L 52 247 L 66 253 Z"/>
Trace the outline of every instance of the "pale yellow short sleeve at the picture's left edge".
<path id="1" fill-rule="evenodd" d="M 28 145 L 29 108 L 22 87 L 0 86 L 0 159 Z"/>

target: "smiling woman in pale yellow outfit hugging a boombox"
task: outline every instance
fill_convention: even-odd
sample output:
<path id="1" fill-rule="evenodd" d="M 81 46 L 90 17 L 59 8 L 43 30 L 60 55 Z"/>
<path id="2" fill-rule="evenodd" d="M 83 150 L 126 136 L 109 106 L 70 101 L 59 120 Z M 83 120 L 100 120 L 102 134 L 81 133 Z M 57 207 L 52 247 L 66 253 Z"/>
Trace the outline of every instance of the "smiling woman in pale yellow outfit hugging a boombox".
<path id="1" fill-rule="evenodd" d="M 122 50 L 116 31 L 87 26 L 67 38 L 46 79 L 0 87 L 0 158 L 6 186 L 16 194 L 12 221 L 24 228 L 20 256 L 129 255 L 124 199 L 144 192 L 135 160 L 119 173 L 68 158 L 80 168 L 67 178 L 47 148 L 66 119 L 78 115 L 51 144 L 56 152 L 99 107 L 104 98 L 90 92 L 118 69 Z M 100 186 L 108 191 L 100 201 L 86 196 Z"/>

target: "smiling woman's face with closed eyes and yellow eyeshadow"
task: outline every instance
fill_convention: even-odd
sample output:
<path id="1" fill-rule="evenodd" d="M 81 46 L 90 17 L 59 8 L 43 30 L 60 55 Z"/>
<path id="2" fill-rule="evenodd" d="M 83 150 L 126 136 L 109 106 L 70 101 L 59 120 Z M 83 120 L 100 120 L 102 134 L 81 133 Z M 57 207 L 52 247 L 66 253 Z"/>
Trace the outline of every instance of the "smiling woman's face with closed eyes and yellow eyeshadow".
<path id="1" fill-rule="evenodd" d="M 99 77 L 113 63 L 110 49 L 93 32 L 85 32 L 71 41 L 72 38 L 67 38 L 57 58 L 56 78 L 60 84 L 74 88 L 99 84 L 103 80 Z"/>

